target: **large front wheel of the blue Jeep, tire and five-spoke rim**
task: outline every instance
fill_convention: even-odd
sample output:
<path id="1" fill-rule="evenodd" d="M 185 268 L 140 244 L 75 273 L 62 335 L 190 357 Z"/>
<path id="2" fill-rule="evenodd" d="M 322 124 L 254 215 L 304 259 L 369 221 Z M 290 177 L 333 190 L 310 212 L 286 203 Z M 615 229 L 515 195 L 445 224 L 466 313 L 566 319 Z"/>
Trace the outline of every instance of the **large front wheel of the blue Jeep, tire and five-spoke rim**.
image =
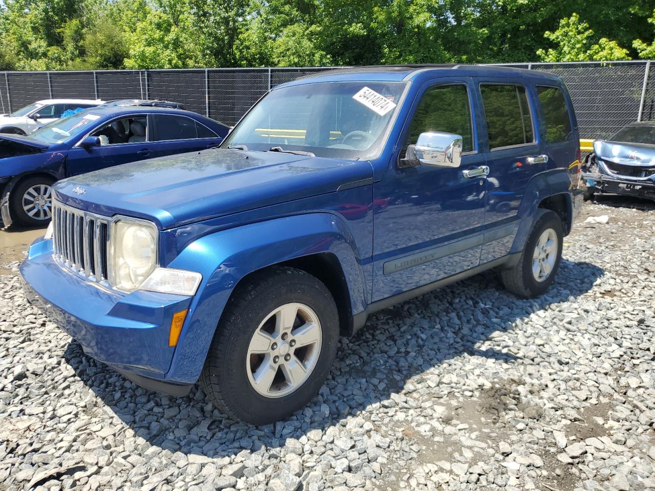
<path id="1" fill-rule="evenodd" d="M 283 318 L 293 318 L 294 327 L 279 328 L 279 323 L 290 324 L 280 322 Z M 311 337 L 307 333 L 315 340 L 301 346 Z M 290 416 L 316 395 L 329 374 L 338 341 L 339 315 L 327 287 L 304 271 L 274 267 L 232 295 L 212 340 L 200 385 L 208 399 L 231 418 L 269 424 Z M 298 362 L 304 371 L 299 371 Z M 291 375 L 297 376 L 295 385 L 289 382 Z M 255 384 L 255 380 L 263 382 Z"/>

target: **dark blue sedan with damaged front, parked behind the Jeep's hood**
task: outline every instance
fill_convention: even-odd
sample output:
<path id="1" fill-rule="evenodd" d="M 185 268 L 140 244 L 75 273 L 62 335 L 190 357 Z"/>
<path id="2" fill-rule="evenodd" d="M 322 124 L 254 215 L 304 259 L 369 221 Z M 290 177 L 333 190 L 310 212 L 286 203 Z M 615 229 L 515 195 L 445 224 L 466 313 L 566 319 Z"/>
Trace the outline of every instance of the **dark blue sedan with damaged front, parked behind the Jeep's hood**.
<path id="1" fill-rule="evenodd" d="M 45 227 L 52 217 L 52 185 L 59 179 L 147 158 L 204 150 L 229 127 L 191 111 L 134 101 L 93 107 L 50 122 L 28 136 L 0 134 L 0 213 Z"/>

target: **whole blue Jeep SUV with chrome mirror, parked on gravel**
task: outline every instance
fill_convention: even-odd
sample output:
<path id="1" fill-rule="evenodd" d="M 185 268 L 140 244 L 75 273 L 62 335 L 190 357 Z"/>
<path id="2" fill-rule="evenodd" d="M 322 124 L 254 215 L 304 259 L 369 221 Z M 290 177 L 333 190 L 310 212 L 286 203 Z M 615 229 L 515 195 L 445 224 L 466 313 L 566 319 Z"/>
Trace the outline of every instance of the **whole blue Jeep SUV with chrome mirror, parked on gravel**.
<path id="1" fill-rule="evenodd" d="M 280 85 L 220 148 L 64 179 L 20 266 L 28 299 L 146 388 L 265 424 L 303 407 L 339 335 L 496 268 L 536 297 L 582 203 L 558 77 L 469 65 Z"/>

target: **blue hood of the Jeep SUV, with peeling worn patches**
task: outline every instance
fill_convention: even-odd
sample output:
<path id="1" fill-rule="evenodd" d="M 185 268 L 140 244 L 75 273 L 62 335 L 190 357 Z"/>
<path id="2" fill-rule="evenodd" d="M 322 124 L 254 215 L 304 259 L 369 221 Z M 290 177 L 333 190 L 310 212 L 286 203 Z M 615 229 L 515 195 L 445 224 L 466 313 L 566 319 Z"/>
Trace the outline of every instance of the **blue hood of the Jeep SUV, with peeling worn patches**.
<path id="1" fill-rule="evenodd" d="M 141 217 L 171 228 L 337 191 L 371 177 L 367 161 L 210 149 L 64 179 L 55 196 L 100 215 Z"/>

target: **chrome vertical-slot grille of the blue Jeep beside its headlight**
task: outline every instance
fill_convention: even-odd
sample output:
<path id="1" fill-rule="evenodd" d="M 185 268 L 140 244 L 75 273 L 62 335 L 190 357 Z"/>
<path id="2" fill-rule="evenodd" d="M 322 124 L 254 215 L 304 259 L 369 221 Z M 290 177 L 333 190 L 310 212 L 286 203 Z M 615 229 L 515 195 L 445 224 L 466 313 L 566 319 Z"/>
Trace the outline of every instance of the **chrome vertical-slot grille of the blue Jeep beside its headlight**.
<path id="1" fill-rule="evenodd" d="M 54 257 L 90 280 L 109 279 L 109 227 L 111 220 L 95 213 L 52 201 Z"/>

